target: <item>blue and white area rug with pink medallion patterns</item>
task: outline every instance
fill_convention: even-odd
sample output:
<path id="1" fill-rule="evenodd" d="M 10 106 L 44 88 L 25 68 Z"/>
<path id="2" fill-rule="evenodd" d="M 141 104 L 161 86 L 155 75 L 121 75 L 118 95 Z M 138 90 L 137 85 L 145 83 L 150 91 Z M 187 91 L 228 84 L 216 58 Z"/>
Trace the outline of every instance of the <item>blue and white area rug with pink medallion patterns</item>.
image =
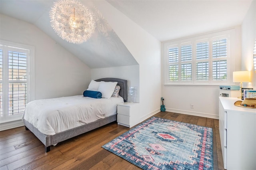
<path id="1" fill-rule="evenodd" d="M 212 128 L 158 117 L 102 148 L 145 170 L 213 170 Z"/>

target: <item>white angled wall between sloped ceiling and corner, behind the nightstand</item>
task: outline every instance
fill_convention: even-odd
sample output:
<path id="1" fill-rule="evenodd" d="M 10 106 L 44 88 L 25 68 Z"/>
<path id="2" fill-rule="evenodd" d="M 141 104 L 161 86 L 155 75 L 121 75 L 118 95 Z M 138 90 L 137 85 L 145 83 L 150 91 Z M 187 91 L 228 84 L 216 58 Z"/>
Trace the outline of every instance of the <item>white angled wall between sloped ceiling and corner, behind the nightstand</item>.
<path id="1" fill-rule="evenodd" d="M 94 1 L 140 65 L 140 121 L 160 111 L 161 43 L 106 1 Z"/>

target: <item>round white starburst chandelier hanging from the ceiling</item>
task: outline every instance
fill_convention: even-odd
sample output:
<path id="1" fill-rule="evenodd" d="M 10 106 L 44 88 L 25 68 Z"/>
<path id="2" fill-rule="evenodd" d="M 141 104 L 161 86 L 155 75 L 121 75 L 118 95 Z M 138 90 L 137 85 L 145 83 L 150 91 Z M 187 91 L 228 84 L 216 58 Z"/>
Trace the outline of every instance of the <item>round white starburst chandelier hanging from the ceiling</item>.
<path id="1" fill-rule="evenodd" d="M 67 42 L 80 44 L 94 33 L 94 14 L 78 0 L 54 2 L 49 16 L 54 31 Z"/>

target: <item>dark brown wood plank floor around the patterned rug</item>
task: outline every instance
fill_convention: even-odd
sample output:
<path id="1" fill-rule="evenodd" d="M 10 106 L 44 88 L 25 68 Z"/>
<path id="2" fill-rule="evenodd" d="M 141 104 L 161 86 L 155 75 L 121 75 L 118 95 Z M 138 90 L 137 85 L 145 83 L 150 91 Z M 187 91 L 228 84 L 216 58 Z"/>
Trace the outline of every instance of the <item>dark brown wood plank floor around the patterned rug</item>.
<path id="1" fill-rule="evenodd" d="M 218 119 L 171 112 L 159 112 L 154 116 L 213 128 L 214 170 L 224 169 Z M 51 146 L 47 153 L 40 140 L 24 127 L 4 130 L 0 132 L 0 170 L 140 169 L 101 147 L 129 129 L 110 123 Z"/>

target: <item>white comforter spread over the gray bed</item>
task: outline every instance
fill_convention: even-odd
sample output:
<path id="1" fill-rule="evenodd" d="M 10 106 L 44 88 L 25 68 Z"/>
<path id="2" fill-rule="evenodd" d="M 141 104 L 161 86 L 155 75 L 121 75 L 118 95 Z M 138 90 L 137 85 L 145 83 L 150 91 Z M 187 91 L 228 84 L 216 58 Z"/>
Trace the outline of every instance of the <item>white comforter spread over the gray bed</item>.
<path id="1" fill-rule="evenodd" d="M 83 95 L 35 100 L 26 105 L 22 119 L 43 134 L 54 135 L 114 115 L 117 104 L 123 102 L 122 97 L 94 99 Z"/>

